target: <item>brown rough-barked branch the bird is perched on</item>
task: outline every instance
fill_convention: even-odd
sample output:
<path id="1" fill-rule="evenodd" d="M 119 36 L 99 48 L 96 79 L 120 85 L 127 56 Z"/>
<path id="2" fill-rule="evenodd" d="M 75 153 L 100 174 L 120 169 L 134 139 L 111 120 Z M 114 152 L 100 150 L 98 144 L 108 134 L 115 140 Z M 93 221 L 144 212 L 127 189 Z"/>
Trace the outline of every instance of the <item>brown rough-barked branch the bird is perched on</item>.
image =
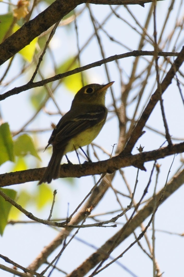
<path id="1" fill-rule="evenodd" d="M 145 170 L 144 163 L 147 161 L 155 161 L 176 153 L 184 152 L 184 142 L 163 147 L 158 150 L 139 153 L 137 155 L 118 155 L 105 161 L 96 163 L 85 163 L 81 165 L 63 164 L 60 167 L 60 178 L 73 177 L 80 178 L 88 175 L 99 175 L 102 173 L 113 173 L 120 168 L 127 166 L 135 166 Z M 10 186 L 12 184 L 21 184 L 30 181 L 38 181 L 44 174 L 45 167 L 34 168 L 0 175 L 0 187 Z"/>

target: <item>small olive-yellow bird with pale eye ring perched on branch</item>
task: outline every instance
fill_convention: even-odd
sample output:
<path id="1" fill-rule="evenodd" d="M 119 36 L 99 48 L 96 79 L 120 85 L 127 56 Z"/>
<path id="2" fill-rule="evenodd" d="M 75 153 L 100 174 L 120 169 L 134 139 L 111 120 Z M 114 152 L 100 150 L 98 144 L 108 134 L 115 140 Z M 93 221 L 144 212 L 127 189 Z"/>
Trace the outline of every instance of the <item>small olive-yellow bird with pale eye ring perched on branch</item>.
<path id="1" fill-rule="evenodd" d="M 106 91 L 113 83 L 88 84 L 75 94 L 70 110 L 59 120 L 45 147 L 52 145 L 52 156 L 39 185 L 59 178 L 63 155 L 89 145 L 97 137 L 108 113 Z"/>

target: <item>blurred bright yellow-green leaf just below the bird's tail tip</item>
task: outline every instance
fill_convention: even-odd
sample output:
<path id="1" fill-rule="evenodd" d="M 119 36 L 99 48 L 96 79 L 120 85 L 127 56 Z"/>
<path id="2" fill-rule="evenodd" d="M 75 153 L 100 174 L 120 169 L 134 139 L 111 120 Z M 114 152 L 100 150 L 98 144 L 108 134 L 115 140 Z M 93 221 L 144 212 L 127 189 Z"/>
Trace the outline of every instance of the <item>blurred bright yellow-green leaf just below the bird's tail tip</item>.
<path id="1" fill-rule="evenodd" d="M 35 195 L 37 209 L 42 209 L 48 203 L 52 203 L 53 192 L 50 189 L 50 186 L 47 184 L 42 184 L 38 186 L 37 194 Z"/>

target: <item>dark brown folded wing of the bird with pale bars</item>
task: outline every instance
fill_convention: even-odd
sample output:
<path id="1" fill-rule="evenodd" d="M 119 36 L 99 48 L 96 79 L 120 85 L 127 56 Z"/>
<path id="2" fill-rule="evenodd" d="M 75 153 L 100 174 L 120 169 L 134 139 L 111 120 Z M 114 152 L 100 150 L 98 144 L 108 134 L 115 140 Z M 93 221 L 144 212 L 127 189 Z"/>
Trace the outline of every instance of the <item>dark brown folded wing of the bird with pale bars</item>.
<path id="1" fill-rule="evenodd" d="M 87 130 L 94 125 L 105 121 L 107 116 L 107 109 L 104 106 L 97 106 L 83 114 L 78 112 L 78 115 L 71 120 L 66 120 L 63 117 L 58 122 L 57 126 L 52 132 L 48 144 L 65 145 L 69 139 L 75 137 L 81 132 Z M 63 119 L 63 120 L 62 120 Z"/>

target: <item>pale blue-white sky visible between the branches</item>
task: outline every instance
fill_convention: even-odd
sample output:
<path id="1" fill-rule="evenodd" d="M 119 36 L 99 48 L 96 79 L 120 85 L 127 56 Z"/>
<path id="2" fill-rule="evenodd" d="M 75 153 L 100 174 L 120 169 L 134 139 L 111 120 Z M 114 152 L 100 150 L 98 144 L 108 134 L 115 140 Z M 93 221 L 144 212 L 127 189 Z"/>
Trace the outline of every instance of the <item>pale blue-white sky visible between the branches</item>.
<path id="1" fill-rule="evenodd" d="M 163 37 L 167 37 L 172 30 L 174 19 L 177 16 L 178 6 L 180 1 L 175 1 L 174 9 L 172 10 L 170 20 L 167 23 L 167 27 L 163 34 Z M 0 3 L 2 5 L 1 13 L 6 12 L 6 5 Z M 144 25 L 145 17 L 147 11 L 149 10 L 150 4 L 145 4 L 145 8 L 137 5 L 132 5 L 129 7 L 134 16 L 139 20 L 141 25 Z M 165 14 L 167 12 L 168 7 L 170 6 L 170 1 L 159 1 L 157 4 L 157 28 L 158 28 L 158 36 L 160 29 L 163 25 L 163 21 L 165 20 Z M 44 9 L 45 6 L 42 4 L 40 9 Z M 77 8 L 77 11 L 82 9 L 83 6 Z M 110 8 L 107 6 L 99 6 L 99 5 L 91 5 L 93 14 L 95 14 L 96 18 L 99 22 L 103 22 L 104 18 L 109 14 Z M 138 24 L 130 17 L 125 7 L 121 6 L 117 9 L 117 13 L 124 18 L 124 20 L 129 20 L 131 24 L 136 28 L 136 30 L 140 31 Z M 180 7 L 180 14 L 178 15 L 178 19 L 182 19 L 184 14 L 183 5 Z M 89 13 L 86 10 L 83 15 L 81 15 L 78 20 L 78 32 L 79 32 L 79 41 L 80 47 L 84 45 L 88 37 L 90 37 L 93 32 L 93 26 L 89 19 Z M 135 30 L 132 30 L 130 27 L 127 27 L 125 23 L 122 23 L 120 19 L 112 16 L 110 20 L 104 25 L 105 30 L 107 30 L 108 34 L 116 38 L 117 41 L 124 43 L 127 45 L 130 50 L 136 50 L 139 42 L 139 35 Z M 66 60 L 66 57 L 74 56 L 77 53 L 76 47 L 76 37 L 75 37 L 75 27 L 74 24 L 71 24 L 70 27 L 64 28 L 59 27 L 56 31 L 53 40 L 50 43 L 50 48 L 54 53 L 55 63 L 59 66 Z M 153 35 L 153 20 L 151 20 L 148 32 L 150 35 Z M 125 52 L 129 52 L 126 47 L 118 43 L 109 42 L 109 39 L 104 34 L 104 32 L 99 32 L 102 45 L 105 49 L 105 57 L 109 57 L 115 54 L 121 54 Z M 181 49 L 182 38 L 179 38 L 178 43 L 175 45 L 175 40 L 177 39 L 177 35 L 173 38 L 170 45 L 168 45 L 168 51 L 172 51 L 173 47 L 176 46 L 176 51 Z M 181 36 L 182 37 L 182 36 Z M 164 40 L 163 40 L 164 41 Z M 153 50 L 152 45 L 149 43 L 145 44 L 143 50 Z M 147 59 L 151 59 L 151 57 L 146 57 Z M 86 65 L 88 63 L 92 63 L 94 61 L 101 60 L 101 54 L 99 48 L 96 46 L 96 39 L 92 39 L 88 47 L 81 54 L 81 64 Z M 122 68 L 122 78 L 123 81 L 126 81 L 129 78 L 132 69 L 132 61 L 133 58 L 125 58 L 119 61 L 119 65 Z M 15 76 L 17 71 L 21 69 L 22 59 L 20 56 L 15 58 L 15 61 L 12 65 L 10 74 Z M 41 70 L 45 78 L 52 76 L 53 71 L 53 61 L 50 58 L 49 54 L 46 54 L 46 57 L 43 61 L 44 66 L 42 66 Z M 146 61 L 141 59 L 139 61 L 139 72 L 144 69 Z M 7 65 L 7 63 L 6 63 Z M 2 66 L 2 72 L 6 68 L 6 65 Z M 120 78 L 119 72 L 117 70 L 115 62 L 107 64 L 110 79 L 111 81 L 115 81 L 113 84 L 114 94 L 116 99 L 120 97 Z M 169 67 L 168 67 L 169 68 Z M 168 70 L 167 68 L 167 70 Z M 96 67 L 87 71 L 87 78 L 89 83 L 106 83 L 108 82 L 106 73 L 104 70 L 104 66 Z M 142 74 L 142 79 L 144 79 L 144 72 Z M 9 77 L 10 78 L 10 77 Z M 23 75 L 22 77 L 16 79 L 8 89 L 11 89 L 14 86 L 20 86 L 22 83 L 25 83 L 30 78 L 30 73 Z M 147 93 L 144 94 L 142 99 L 142 103 L 146 101 L 149 97 L 151 88 L 155 82 L 154 72 L 152 74 L 152 78 L 149 79 L 149 83 L 147 84 Z M 5 80 L 6 81 L 6 80 Z M 54 86 L 54 85 L 53 85 Z M 183 84 L 182 84 L 183 88 Z M 139 92 L 140 84 L 135 86 L 132 89 L 131 96 L 129 101 Z M 1 91 L 3 88 L 1 89 Z M 4 100 L 1 104 L 1 114 L 2 118 L 5 122 L 9 122 L 10 128 L 12 131 L 19 130 L 21 126 L 29 120 L 30 115 L 34 114 L 34 109 L 30 103 L 30 94 L 32 91 L 25 91 L 19 95 L 13 96 Z M 59 104 L 60 109 L 63 112 L 67 112 L 70 109 L 71 101 L 74 97 L 74 92 L 68 91 L 65 84 L 61 84 L 55 92 L 55 99 L 57 99 L 57 103 Z M 179 138 L 184 137 L 183 125 L 181 122 L 181 118 L 184 116 L 183 104 L 180 99 L 178 91 L 176 91 L 175 83 L 173 82 L 165 94 L 163 95 L 164 107 L 166 111 L 167 121 L 170 129 L 170 134 L 173 136 L 177 136 Z M 106 96 L 106 106 L 109 107 L 109 110 L 112 111 L 113 108 L 111 106 L 111 93 L 108 91 Z M 119 102 L 118 102 L 119 103 Z M 172 104 L 171 104 L 172 103 Z M 127 110 L 127 116 L 131 117 L 134 111 L 135 104 L 132 103 L 129 105 Z M 57 112 L 57 109 L 51 100 L 48 101 L 46 105 L 46 110 L 51 112 Z M 11 112 L 9 112 L 11 111 Z M 140 115 L 141 110 L 137 111 L 137 118 Z M 102 145 L 109 153 L 112 151 L 112 145 L 118 142 L 118 123 L 115 118 L 111 118 L 112 112 L 108 114 L 108 120 L 103 130 L 99 134 L 99 136 L 95 139 L 95 143 Z M 13 116 L 12 116 L 13 115 Z M 44 111 L 40 112 L 39 117 L 36 120 L 33 120 L 31 124 L 27 126 L 26 131 L 31 129 L 39 129 L 39 128 L 49 128 L 50 122 L 54 122 L 57 124 L 60 119 L 60 115 L 52 115 L 49 116 Z M 178 120 L 180 119 L 180 120 Z M 154 127 L 157 130 L 163 131 L 163 120 L 160 112 L 160 106 L 157 104 L 155 107 L 150 119 L 147 122 L 147 125 Z M 164 142 L 164 137 L 154 132 L 146 129 L 146 133 L 139 139 L 136 146 L 144 145 L 145 151 L 150 151 L 159 148 Z M 39 146 L 41 145 L 42 151 L 47 145 L 47 141 L 50 137 L 51 130 L 48 132 L 44 132 L 43 134 L 39 134 Z M 34 137 L 34 136 L 33 136 Z M 38 139 L 34 137 L 35 141 Z M 40 144 L 41 141 L 41 144 Z M 179 141 L 176 141 L 177 143 Z M 91 149 L 91 148 L 90 148 Z M 47 166 L 50 151 L 42 153 L 39 152 L 42 163 L 39 163 L 35 160 L 34 157 L 27 157 L 26 161 L 29 164 L 29 168 L 34 168 L 35 165 Z M 90 150 L 92 153 L 92 150 Z M 136 148 L 134 148 L 132 153 L 137 153 Z M 108 156 L 101 151 L 98 151 L 98 155 L 101 160 L 107 159 Z M 70 153 L 69 158 L 73 163 L 78 163 L 75 153 Z M 96 161 L 95 157 L 93 160 Z M 83 159 L 81 158 L 81 161 Z M 159 191 L 163 184 L 166 181 L 169 167 L 173 161 L 173 157 L 167 157 L 164 160 L 159 160 L 161 164 L 161 174 L 159 176 L 159 182 L 157 186 L 157 191 Z M 62 162 L 66 162 L 65 158 L 63 158 Z M 139 181 L 137 185 L 135 199 L 139 201 L 144 188 L 149 180 L 150 170 L 152 168 L 153 163 L 146 163 L 145 167 L 147 172 L 139 173 Z M 170 176 L 172 176 L 180 165 L 180 155 L 175 157 L 174 164 L 171 168 Z M 0 173 L 4 173 L 6 171 L 11 171 L 12 164 L 10 162 L 5 163 L 0 168 Z M 136 168 L 126 168 L 124 170 L 126 174 L 126 178 L 133 189 L 137 169 Z M 96 181 L 98 181 L 99 176 L 95 177 Z M 146 199 L 152 195 L 154 189 L 155 182 L 155 174 L 152 178 L 152 184 L 149 188 L 148 194 L 146 195 Z M 16 189 L 20 191 L 21 189 L 25 189 L 30 193 L 35 193 L 37 190 L 37 182 L 30 182 L 26 184 L 11 186 L 12 189 Z M 52 191 L 57 189 L 56 203 L 53 209 L 53 217 L 66 217 L 67 213 L 71 214 L 73 210 L 78 206 L 78 204 L 82 201 L 82 199 L 88 194 L 90 189 L 94 185 L 93 177 L 81 177 L 80 179 L 75 179 L 73 184 L 71 184 L 68 180 L 60 179 L 53 181 L 49 187 Z M 117 190 L 122 191 L 123 193 L 127 193 L 125 186 L 123 184 L 122 178 L 119 173 L 116 174 L 116 177 L 113 181 L 113 185 Z M 159 267 L 161 272 L 164 272 L 163 276 L 171 277 L 171 276 L 181 276 L 181 272 L 183 270 L 183 238 L 175 235 L 183 233 L 184 230 L 184 221 L 183 221 L 183 187 L 181 187 L 176 193 L 174 193 L 167 201 L 165 201 L 160 207 L 155 217 L 155 228 L 158 229 L 156 235 L 156 258 L 159 263 Z M 126 207 L 129 204 L 129 200 L 126 198 L 121 198 L 123 206 Z M 38 211 L 38 209 L 32 205 L 26 207 L 26 209 L 32 212 L 35 216 L 41 217 L 43 219 L 47 218 L 50 212 L 50 204 L 48 204 L 44 210 Z M 119 205 L 116 201 L 116 197 L 113 194 L 112 190 L 109 189 L 103 200 L 99 203 L 98 208 L 94 210 L 94 214 L 103 213 L 111 210 L 119 209 Z M 69 210 L 69 211 L 68 211 Z M 130 213 L 128 213 L 130 216 Z M 23 219 L 22 217 L 21 219 Z M 99 217 L 101 220 L 104 218 L 108 219 L 109 216 Z M 24 218 L 25 219 L 25 218 Z M 144 222 L 144 225 L 148 220 Z M 92 220 L 89 223 L 93 223 Z M 117 230 L 125 223 L 125 218 L 119 220 L 119 224 L 117 228 L 97 228 L 93 227 L 91 229 L 85 228 L 80 230 L 76 238 L 73 239 L 70 245 L 66 248 L 64 254 L 60 258 L 58 266 L 62 268 L 62 270 L 70 273 L 74 268 L 76 268 L 80 263 L 91 253 L 95 251 L 94 247 L 99 247 L 102 245 L 109 237 L 111 237 Z M 159 230 L 167 230 L 169 232 L 173 232 L 172 235 L 160 232 Z M 136 230 L 136 234 L 139 235 L 140 230 Z M 42 251 L 45 245 L 48 245 L 55 236 L 58 234 L 58 230 L 53 230 L 51 227 L 45 227 L 43 225 L 34 223 L 34 224 L 16 224 L 16 225 L 8 225 L 5 229 L 3 237 L 0 238 L 1 245 L 1 254 L 9 257 L 11 260 L 16 261 L 17 263 L 27 266 L 29 265 L 37 255 Z M 148 231 L 148 237 L 151 238 L 152 231 L 151 228 Z M 82 239 L 85 243 L 81 243 L 78 239 Z M 125 240 L 116 250 L 113 251 L 112 257 L 116 257 L 126 249 L 130 245 L 130 243 L 134 241 L 133 235 L 131 235 L 127 240 Z M 141 243 L 143 247 L 147 249 L 147 245 L 145 240 L 142 239 Z M 93 246 L 91 246 L 93 245 Z M 10 251 L 11 249 L 11 251 Z M 49 257 L 49 261 L 57 255 L 60 251 L 60 247 Z M 108 260 L 109 261 L 109 260 Z M 140 250 L 139 246 L 134 245 L 121 259 L 119 262 L 126 266 L 129 270 L 131 270 L 135 276 L 139 277 L 147 277 L 152 276 L 152 261 Z M 5 264 L 3 261 L 0 263 Z M 41 267 L 39 272 L 45 268 L 45 265 Z M 1 273 L 1 270 L 0 270 Z M 122 269 L 117 263 L 109 266 L 108 269 L 102 271 L 100 273 L 100 277 L 104 276 L 112 276 L 116 273 L 117 276 L 123 275 L 124 277 L 133 276 L 130 275 L 129 272 Z M 3 277 L 12 276 L 10 273 L 3 271 Z M 1 275 L 0 274 L 0 275 Z M 48 273 L 47 273 L 48 275 Z M 45 276 L 47 276 L 45 275 Z M 88 274 L 87 276 L 89 276 Z M 53 276 L 63 276 L 62 273 L 58 271 L 54 271 Z"/>

